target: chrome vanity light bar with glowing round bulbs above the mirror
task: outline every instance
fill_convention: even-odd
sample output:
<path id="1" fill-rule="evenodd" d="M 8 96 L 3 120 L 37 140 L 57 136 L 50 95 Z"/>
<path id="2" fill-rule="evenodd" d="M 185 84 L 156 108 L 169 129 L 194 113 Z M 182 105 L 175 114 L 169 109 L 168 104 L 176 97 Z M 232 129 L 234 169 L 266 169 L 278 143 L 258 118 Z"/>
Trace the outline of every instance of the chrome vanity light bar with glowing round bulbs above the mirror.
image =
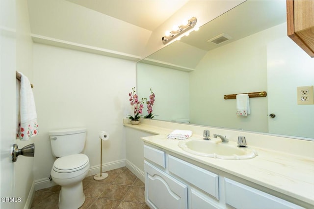
<path id="1" fill-rule="evenodd" d="M 163 44 L 167 44 L 169 41 L 178 38 L 180 40 L 181 35 L 184 32 L 189 31 L 191 28 L 193 28 L 196 25 L 196 17 L 192 17 L 189 20 L 184 20 L 181 26 L 173 26 L 172 31 L 166 31 L 165 35 L 162 36 L 161 40 Z M 198 28 L 195 28 L 197 30 Z M 186 33 L 188 35 L 189 33 Z"/>

